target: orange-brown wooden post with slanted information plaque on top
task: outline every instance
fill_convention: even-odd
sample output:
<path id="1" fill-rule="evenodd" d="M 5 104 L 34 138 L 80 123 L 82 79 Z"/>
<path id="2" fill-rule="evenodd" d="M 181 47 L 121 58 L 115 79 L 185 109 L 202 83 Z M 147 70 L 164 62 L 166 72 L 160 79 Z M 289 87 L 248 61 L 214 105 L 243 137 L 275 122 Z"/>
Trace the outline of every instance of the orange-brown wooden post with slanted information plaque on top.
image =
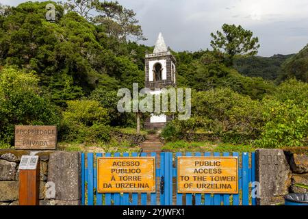
<path id="1" fill-rule="evenodd" d="M 38 156 L 23 156 L 19 165 L 19 205 L 39 205 L 39 194 Z"/>

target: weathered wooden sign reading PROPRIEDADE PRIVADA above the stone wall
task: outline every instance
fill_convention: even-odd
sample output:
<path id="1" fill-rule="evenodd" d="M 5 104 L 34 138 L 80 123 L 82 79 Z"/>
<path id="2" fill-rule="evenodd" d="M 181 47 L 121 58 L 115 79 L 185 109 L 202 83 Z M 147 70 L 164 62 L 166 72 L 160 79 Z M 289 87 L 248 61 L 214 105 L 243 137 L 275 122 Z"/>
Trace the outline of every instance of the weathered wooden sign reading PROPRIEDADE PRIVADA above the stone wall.
<path id="1" fill-rule="evenodd" d="M 38 125 L 15 126 L 15 149 L 54 150 L 57 127 Z"/>

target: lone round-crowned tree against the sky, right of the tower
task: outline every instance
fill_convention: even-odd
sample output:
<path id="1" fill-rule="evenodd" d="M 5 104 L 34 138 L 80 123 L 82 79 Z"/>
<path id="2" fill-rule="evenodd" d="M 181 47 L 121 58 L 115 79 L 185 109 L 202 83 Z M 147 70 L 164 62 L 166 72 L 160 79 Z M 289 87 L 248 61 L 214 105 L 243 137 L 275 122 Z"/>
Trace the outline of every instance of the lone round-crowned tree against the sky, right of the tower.
<path id="1" fill-rule="evenodd" d="M 253 37 L 253 32 L 244 29 L 241 25 L 222 25 L 222 32 L 211 33 L 211 47 L 215 51 L 226 53 L 230 64 L 235 55 L 251 56 L 257 54 L 260 44 L 259 39 Z"/>

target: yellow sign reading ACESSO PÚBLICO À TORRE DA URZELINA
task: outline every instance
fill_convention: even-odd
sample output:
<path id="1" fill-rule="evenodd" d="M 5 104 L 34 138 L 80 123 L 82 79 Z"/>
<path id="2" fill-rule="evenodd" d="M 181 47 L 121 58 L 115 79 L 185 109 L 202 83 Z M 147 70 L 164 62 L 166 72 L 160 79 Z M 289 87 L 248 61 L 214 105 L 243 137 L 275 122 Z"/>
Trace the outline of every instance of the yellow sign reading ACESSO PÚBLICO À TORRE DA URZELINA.
<path id="1" fill-rule="evenodd" d="M 155 192 L 155 157 L 99 157 L 98 192 Z"/>

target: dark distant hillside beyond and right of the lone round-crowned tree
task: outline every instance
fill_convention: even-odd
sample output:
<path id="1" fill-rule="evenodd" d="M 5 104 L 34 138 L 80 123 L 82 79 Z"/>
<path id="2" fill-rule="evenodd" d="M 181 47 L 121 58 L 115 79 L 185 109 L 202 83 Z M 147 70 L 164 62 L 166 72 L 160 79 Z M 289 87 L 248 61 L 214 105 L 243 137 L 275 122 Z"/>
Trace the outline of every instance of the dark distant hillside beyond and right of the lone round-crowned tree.
<path id="1" fill-rule="evenodd" d="M 233 66 L 242 75 L 274 80 L 281 75 L 281 65 L 283 62 L 292 57 L 292 55 L 240 57 L 234 61 Z"/>

